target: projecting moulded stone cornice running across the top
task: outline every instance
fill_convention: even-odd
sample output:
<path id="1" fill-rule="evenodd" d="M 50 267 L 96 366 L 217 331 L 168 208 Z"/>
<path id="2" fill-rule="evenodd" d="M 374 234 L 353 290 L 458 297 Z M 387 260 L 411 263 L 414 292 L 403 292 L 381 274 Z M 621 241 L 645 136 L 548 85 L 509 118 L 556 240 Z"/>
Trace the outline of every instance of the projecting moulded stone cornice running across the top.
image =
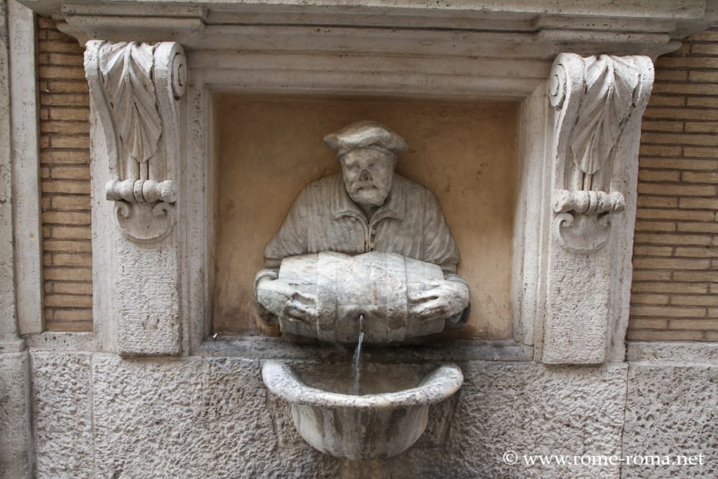
<path id="1" fill-rule="evenodd" d="M 307 38 L 307 42 L 289 42 L 294 49 L 335 51 L 337 36 L 363 39 L 363 33 L 356 32 L 360 29 L 370 31 L 370 37 L 381 37 L 386 51 L 406 55 L 426 55 L 426 50 L 456 55 L 457 43 L 478 50 L 482 45 L 493 48 L 507 43 L 523 57 L 541 58 L 565 51 L 570 43 L 580 55 L 656 57 L 676 49 L 676 40 L 718 21 L 714 0 L 639 0 L 630 5 L 597 0 L 462 0 L 441 8 L 423 0 L 20 1 L 57 19 L 81 42 L 121 41 L 131 33 L 143 42 L 172 39 L 188 50 L 236 48 L 236 40 L 251 37 L 253 30 L 281 26 L 294 27 L 287 35 Z M 400 41 L 408 31 L 422 37 L 409 50 Z M 222 37 L 228 41 L 222 42 Z M 523 51 L 527 46 L 531 48 Z"/>

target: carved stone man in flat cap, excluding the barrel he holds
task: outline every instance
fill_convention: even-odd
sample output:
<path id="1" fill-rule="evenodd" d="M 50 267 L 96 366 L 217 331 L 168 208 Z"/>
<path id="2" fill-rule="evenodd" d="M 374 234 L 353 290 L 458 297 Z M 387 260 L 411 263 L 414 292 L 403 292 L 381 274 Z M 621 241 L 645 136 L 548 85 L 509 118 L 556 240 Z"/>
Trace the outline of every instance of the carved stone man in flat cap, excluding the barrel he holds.
<path id="1" fill-rule="evenodd" d="M 463 325 L 469 290 L 456 274 L 459 251 L 439 203 L 426 187 L 394 172 L 406 141 L 375 121 L 350 124 L 324 141 L 337 150 L 342 172 L 309 183 L 266 245 L 266 269 L 256 277 L 261 315 L 314 319 L 316 298 L 281 279 L 283 259 L 323 251 L 378 251 L 438 265 L 444 279 L 409 293 L 409 315 L 419 321 L 447 318 L 448 327 Z"/>

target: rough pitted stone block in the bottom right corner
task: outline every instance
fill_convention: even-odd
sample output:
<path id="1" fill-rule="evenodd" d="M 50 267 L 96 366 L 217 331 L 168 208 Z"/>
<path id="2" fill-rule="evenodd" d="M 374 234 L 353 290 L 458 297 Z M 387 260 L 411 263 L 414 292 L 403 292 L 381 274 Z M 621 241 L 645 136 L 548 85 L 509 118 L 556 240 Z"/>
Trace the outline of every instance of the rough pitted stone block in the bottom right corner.
<path id="1" fill-rule="evenodd" d="M 624 479 L 718 477 L 718 366 L 632 364 L 624 455 L 704 455 L 704 465 L 624 466 Z"/>

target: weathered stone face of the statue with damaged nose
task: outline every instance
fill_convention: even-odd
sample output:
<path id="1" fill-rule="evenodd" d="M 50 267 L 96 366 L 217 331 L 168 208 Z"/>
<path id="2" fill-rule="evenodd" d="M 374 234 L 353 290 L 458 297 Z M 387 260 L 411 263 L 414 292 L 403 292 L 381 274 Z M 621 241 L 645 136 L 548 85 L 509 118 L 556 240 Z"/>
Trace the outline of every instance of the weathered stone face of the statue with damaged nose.
<path id="1" fill-rule="evenodd" d="M 353 149 L 342 155 L 344 187 L 363 206 L 381 206 L 391 191 L 394 157 L 373 148 Z"/>

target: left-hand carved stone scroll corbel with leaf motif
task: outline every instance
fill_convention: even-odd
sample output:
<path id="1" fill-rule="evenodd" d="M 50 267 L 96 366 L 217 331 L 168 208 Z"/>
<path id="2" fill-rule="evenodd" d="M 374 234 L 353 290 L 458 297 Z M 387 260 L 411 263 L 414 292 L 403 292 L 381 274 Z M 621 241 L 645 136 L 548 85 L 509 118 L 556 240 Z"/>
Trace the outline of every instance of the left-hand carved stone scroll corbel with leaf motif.
<path id="1" fill-rule="evenodd" d="M 186 65 L 176 42 L 87 43 L 85 75 L 109 154 L 106 198 L 131 241 L 160 241 L 174 228 Z"/>

